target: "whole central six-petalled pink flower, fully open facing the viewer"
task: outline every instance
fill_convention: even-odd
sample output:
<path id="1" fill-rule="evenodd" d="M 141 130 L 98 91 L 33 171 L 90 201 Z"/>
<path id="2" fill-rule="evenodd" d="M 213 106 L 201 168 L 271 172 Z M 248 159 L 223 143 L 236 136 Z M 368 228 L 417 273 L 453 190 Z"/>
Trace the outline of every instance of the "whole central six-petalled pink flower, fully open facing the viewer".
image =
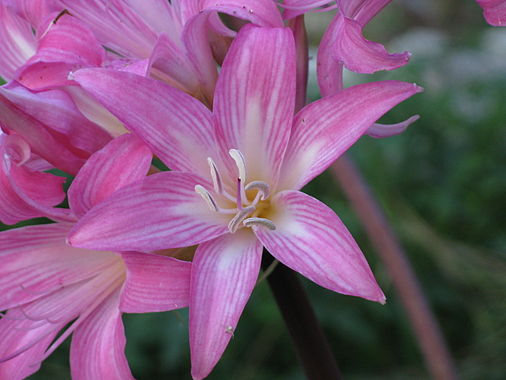
<path id="1" fill-rule="evenodd" d="M 213 113 L 160 82 L 103 69 L 75 73 L 173 171 L 95 206 L 69 241 L 147 251 L 199 244 L 190 295 L 196 379 L 207 376 L 232 337 L 263 247 L 321 286 L 385 300 L 337 215 L 299 189 L 420 88 L 395 81 L 355 86 L 294 118 L 294 50 L 289 29 L 244 27 L 223 64 Z"/>

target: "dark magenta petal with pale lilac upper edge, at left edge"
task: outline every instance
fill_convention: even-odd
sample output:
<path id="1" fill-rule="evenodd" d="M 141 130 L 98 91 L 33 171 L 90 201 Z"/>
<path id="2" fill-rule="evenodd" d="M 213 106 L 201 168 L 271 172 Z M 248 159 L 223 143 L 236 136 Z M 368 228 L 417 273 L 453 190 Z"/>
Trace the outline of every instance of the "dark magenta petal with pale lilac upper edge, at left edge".
<path id="1" fill-rule="evenodd" d="M 71 97 L 61 90 L 31 92 L 16 82 L 2 87 L 1 94 L 13 106 L 44 124 L 58 140 L 84 155 L 94 153 L 111 136 L 86 119 Z"/>

